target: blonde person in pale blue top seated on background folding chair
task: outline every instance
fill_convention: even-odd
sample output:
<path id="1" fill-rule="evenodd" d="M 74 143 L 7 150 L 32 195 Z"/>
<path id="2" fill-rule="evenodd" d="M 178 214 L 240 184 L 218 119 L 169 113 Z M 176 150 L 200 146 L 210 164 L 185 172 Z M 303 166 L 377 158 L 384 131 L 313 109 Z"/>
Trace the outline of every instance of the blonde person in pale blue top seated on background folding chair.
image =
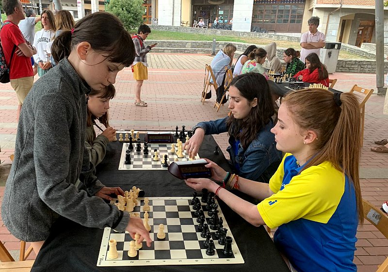
<path id="1" fill-rule="evenodd" d="M 232 66 L 234 52 L 236 52 L 234 44 L 227 44 L 224 48 L 218 51 L 214 59 L 211 61 L 210 67 L 213 70 L 215 81 L 218 86 L 224 84 L 224 76 L 226 74 L 226 67 Z M 213 83 L 213 80 L 210 80 Z"/>

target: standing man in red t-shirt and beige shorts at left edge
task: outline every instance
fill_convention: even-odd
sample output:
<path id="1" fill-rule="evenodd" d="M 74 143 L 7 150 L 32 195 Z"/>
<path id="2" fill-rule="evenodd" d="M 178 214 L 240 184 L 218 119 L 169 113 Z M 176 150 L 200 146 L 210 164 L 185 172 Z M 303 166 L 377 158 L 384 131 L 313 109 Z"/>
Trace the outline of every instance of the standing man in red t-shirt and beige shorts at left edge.
<path id="1" fill-rule="evenodd" d="M 17 120 L 24 98 L 33 84 L 33 71 L 31 57 L 36 54 L 36 49 L 26 41 L 17 24 L 24 19 L 24 10 L 19 0 L 2 0 L 2 7 L 7 15 L 7 20 L 1 28 L 0 40 L 4 51 L 6 63 L 9 68 L 11 86 L 14 88 L 18 100 Z M 16 46 L 14 55 L 11 54 Z M 9 65 L 11 61 L 11 66 Z"/>

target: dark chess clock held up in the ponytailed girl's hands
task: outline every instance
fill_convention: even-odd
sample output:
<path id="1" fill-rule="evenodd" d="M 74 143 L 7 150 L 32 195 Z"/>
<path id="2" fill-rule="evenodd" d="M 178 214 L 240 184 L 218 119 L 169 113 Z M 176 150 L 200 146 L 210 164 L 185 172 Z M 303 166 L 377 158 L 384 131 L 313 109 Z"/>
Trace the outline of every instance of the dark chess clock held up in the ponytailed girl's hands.
<path id="1" fill-rule="evenodd" d="M 179 179 L 211 177 L 210 169 L 205 167 L 206 164 L 208 162 L 204 159 L 173 161 L 168 166 L 168 172 Z"/>

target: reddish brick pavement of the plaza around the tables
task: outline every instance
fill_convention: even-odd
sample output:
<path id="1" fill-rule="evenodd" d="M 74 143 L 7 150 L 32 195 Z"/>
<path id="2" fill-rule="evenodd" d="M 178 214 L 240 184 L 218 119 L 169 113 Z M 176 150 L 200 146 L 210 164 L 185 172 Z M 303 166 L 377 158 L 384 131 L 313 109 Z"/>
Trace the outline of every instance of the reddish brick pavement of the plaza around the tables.
<path id="1" fill-rule="evenodd" d="M 195 58 L 195 55 L 192 56 Z M 213 109 L 213 98 L 200 103 L 203 86 L 202 69 L 169 70 L 149 68 L 149 80 L 145 81 L 142 99 L 148 107 L 135 107 L 134 81 L 130 68 L 118 74 L 116 80 L 117 95 L 111 101 L 111 125 L 116 129 L 134 128 L 142 130 L 171 129 L 176 125 L 194 126 L 201 120 L 215 120 L 226 116 L 227 106 L 218 113 Z M 375 75 L 335 73 L 330 78 L 337 78 L 336 88 L 348 91 L 354 83 L 375 89 Z M 366 104 L 364 146 L 360 160 L 362 195 L 372 204 L 380 207 L 388 200 L 388 154 L 370 151 L 374 140 L 388 138 L 388 115 L 382 115 L 384 97 L 372 95 Z M 9 163 L 8 156 L 13 153 L 16 134 L 16 95 L 10 84 L 0 84 L 0 160 Z M 214 135 L 221 149 L 226 153 L 226 133 Z M 356 141 L 356 139 L 355 139 Z M 226 154 L 227 155 L 227 154 Z M 2 200 L 4 187 L 0 187 Z M 371 224 L 366 222 L 359 226 L 355 263 L 359 272 L 375 271 L 387 257 L 388 240 Z M 0 222 L 0 240 L 7 249 L 17 255 L 19 242 Z M 32 254 L 31 258 L 35 256 Z"/>

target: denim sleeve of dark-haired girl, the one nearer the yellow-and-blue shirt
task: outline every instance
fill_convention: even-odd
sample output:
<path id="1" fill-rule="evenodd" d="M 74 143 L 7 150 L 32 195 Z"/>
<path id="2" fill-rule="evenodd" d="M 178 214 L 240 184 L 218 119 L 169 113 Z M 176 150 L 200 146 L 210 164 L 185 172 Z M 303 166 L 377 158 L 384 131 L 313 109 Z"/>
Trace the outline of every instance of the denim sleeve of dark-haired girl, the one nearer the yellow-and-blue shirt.
<path id="1" fill-rule="evenodd" d="M 244 154 L 240 176 L 257 181 L 270 164 L 267 149 L 259 143 L 250 144 Z"/>

